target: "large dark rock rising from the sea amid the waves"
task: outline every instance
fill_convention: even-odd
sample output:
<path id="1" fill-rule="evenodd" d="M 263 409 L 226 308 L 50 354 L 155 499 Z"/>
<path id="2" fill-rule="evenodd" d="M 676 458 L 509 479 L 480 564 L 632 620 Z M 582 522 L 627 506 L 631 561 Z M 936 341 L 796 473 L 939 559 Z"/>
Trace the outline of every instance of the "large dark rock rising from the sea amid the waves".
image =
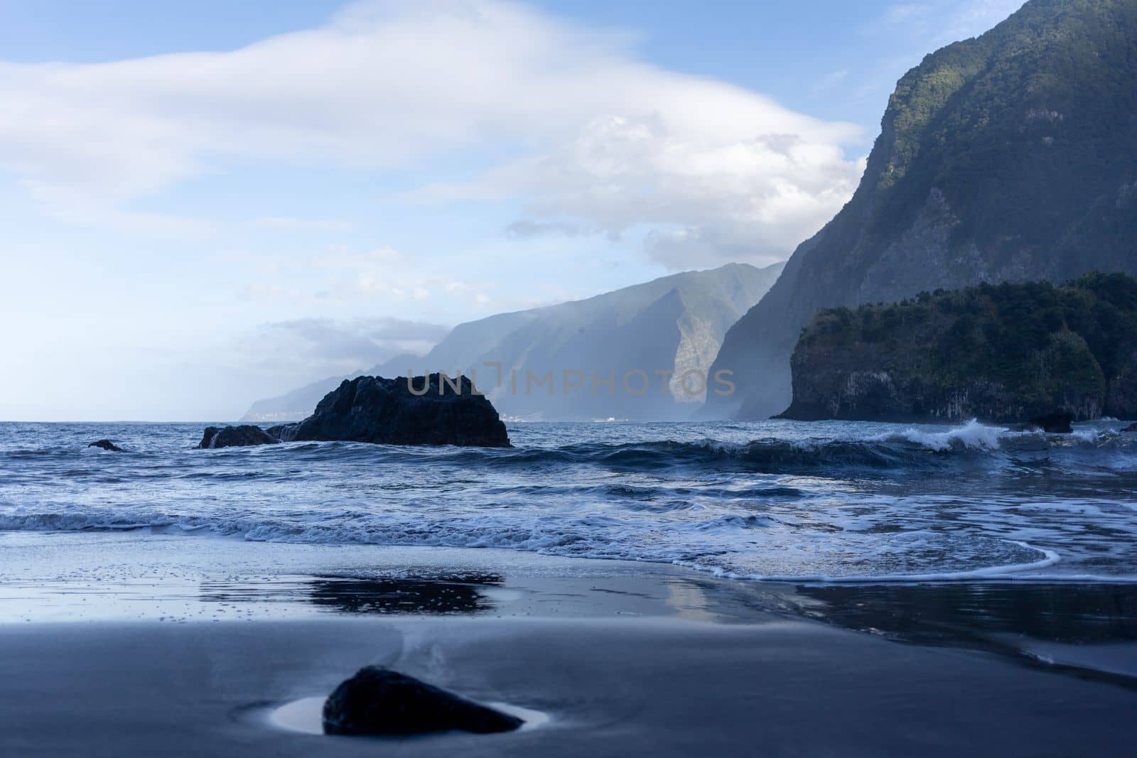
<path id="1" fill-rule="evenodd" d="M 451 384 L 453 382 L 453 384 Z M 412 388 L 414 392 L 412 392 Z M 458 444 L 508 448 L 492 403 L 465 376 L 407 380 L 359 376 L 329 392 L 298 424 L 274 426 L 284 442 L 342 440 L 380 444 Z"/>

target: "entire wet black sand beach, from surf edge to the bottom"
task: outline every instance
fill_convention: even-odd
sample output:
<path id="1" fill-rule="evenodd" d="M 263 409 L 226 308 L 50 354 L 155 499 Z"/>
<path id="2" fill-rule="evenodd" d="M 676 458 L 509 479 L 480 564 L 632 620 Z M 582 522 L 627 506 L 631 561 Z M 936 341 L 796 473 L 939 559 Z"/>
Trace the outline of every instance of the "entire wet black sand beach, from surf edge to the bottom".
<path id="1" fill-rule="evenodd" d="M 824 605 L 810 588 L 493 550 L 132 534 L 5 543 L 20 559 L 0 599 L 5 755 L 1070 756 L 1124 755 L 1135 736 L 1137 686 L 1123 673 L 847 631 L 835 614 L 802 617 L 802 603 Z M 114 566 L 116 553 L 148 578 L 105 569 L 100 581 L 83 565 Z M 14 566 L 34 578 L 20 583 Z M 338 580 L 319 577 L 333 567 Z M 920 601 L 929 613 L 935 597 Z M 83 603 L 102 606 L 97 620 Z M 164 615 L 140 613 L 148 603 Z M 879 607 L 904 613 L 896 598 Z M 1128 623 L 1072 647 L 1131 670 Z M 377 741 L 271 720 L 366 664 L 549 720 Z"/>

